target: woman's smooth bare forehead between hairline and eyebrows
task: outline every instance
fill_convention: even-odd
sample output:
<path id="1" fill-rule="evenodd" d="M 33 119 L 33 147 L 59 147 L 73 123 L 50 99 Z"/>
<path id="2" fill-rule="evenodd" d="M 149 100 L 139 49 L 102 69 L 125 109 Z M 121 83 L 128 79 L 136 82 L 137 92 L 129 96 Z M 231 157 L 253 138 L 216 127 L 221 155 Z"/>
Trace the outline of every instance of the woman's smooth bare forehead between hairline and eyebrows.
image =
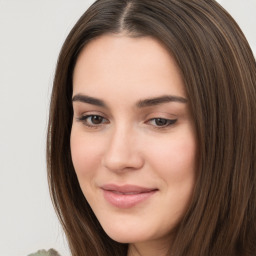
<path id="1" fill-rule="evenodd" d="M 185 96 L 180 70 L 160 42 L 151 37 L 113 34 L 92 40 L 81 51 L 73 90 L 91 96 L 106 96 L 111 91 L 116 96 L 140 98 L 166 93 Z"/>

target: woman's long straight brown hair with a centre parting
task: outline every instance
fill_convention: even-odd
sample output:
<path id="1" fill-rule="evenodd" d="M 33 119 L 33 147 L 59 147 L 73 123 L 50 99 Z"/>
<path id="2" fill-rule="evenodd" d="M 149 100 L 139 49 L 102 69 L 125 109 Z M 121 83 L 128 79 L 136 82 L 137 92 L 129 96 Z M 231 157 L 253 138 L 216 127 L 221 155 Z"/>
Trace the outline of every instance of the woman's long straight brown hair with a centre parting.
<path id="1" fill-rule="evenodd" d="M 105 33 L 156 38 L 183 76 L 198 170 L 169 255 L 256 255 L 256 64 L 240 28 L 214 0 L 98 0 L 68 35 L 52 90 L 47 161 L 72 255 L 127 254 L 127 245 L 105 234 L 88 205 L 70 153 L 74 66 L 81 49 Z"/>

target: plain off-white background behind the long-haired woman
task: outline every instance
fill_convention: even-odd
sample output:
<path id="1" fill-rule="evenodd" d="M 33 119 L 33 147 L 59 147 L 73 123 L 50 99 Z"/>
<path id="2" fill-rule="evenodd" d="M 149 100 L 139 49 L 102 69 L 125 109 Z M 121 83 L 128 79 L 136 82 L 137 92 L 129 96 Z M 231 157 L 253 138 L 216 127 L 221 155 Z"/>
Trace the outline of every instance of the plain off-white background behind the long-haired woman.
<path id="1" fill-rule="evenodd" d="M 47 116 L 60 47 L 92 2 L 0 0 L 0 255 L 69 255 L 48 194 Z M 219 2 L 256 53 L 256 0 Z"/>

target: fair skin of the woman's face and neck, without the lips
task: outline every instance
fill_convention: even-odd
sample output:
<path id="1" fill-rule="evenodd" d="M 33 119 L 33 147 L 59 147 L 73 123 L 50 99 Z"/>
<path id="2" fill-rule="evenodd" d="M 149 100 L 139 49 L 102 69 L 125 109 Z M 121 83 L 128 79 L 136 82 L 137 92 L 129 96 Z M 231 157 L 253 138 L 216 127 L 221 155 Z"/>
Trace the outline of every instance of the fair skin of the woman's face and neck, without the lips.
<path id="1" fill-rule="evenodd" d="M 139 104 L 164 95 L 183 100 Z M 173 57 L 151 37 L 103 35 L 87 44 L 77 60 L 70 138 L 74 168 L 103 229 L 130 244 L 129 256 L 165 255 L 188 207 L 196 136 L 186 98 Z M 133 207 L 119 208 L 104 198 L 104 184 L 156 192 Z"/>

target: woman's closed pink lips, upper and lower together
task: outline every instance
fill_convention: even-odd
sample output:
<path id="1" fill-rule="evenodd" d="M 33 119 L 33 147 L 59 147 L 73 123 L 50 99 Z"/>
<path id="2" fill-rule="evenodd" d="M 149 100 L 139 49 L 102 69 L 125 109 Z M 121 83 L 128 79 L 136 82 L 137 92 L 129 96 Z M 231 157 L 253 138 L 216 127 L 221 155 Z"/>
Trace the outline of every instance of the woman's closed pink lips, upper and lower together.
<path id="1" fill-rule="evenodd" d="M 158 189 L 146 188 L 137 185 L 106 184 L 101 187 L 104 198 L 117 208 L 134 207 L 153 196 Z"/>

